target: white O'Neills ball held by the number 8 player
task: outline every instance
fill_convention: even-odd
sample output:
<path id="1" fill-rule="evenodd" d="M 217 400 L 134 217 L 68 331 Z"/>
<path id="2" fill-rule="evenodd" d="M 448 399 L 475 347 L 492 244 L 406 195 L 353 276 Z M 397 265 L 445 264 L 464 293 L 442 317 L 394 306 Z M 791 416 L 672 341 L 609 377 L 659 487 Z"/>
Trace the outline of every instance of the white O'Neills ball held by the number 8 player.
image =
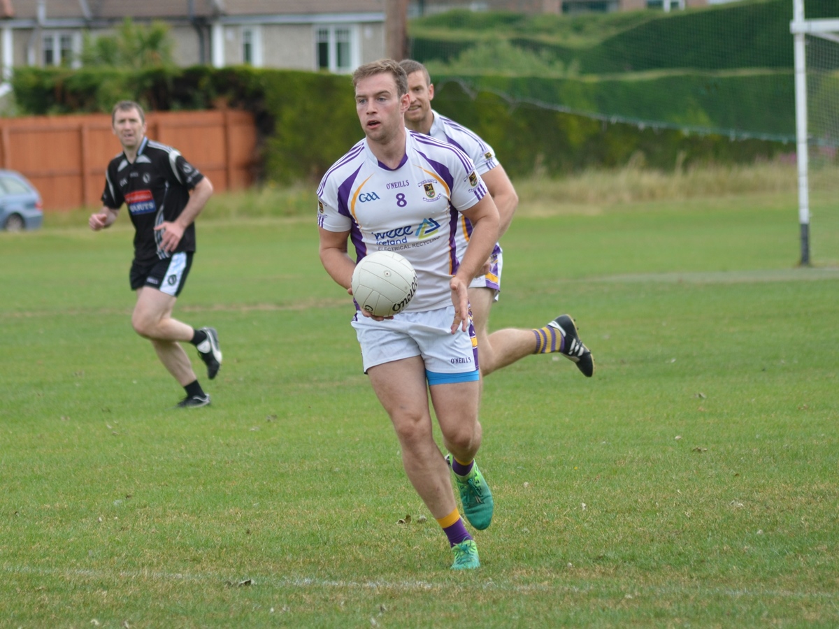
<path id="1" fill-rule="evenodd" d="M 352 272 L 352 296 L 362 310 L 389 317 L 409 304 L 417 290 L 414 267 L 399 253 L 377 251 L 362 257 Z"/>

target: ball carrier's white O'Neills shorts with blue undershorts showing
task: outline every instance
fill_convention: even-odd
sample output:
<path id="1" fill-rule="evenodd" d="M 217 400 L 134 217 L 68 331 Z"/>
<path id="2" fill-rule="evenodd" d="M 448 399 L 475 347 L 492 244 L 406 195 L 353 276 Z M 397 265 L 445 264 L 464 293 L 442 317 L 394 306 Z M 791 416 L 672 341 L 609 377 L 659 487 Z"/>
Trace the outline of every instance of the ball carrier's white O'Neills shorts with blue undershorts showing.
<path id="1" fill-rule="evenodd" d="M 372 366 L 422 356 L 429 384 L 479 378 L 477 337 L 470 314 L 466 332 L 451 334 L 453 305 L 436 310 L 400 312 L 392 320 L 374 321 L 360 312 L 352 320 L 362 347 L 364 372 Z"/>

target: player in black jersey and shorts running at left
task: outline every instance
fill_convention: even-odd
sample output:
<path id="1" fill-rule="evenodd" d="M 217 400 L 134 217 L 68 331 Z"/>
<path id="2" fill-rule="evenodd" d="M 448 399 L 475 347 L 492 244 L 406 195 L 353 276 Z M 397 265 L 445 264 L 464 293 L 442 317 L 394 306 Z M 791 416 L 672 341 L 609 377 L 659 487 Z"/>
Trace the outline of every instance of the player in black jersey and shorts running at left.
<path id="1" fill-rule="evenodd" d="M 183 156 L 146 137 L 143 107 L 120 101 L 112 112 L 113 133 L 122 153 L 107 166 L 102 210 L 91 215 L 93 231 L 111 226 L 122 205 L 134 225 L 131 289 L 137 303 L 131 316 L 134 330 L 152 342 L 160 361 L 186 391 L 182 408 L 206 406 L 210 396 L 201 388 L 186 352 L 198 350 L 212 380 L 221 366 L 221 349 L 214 328 L 195 330 L 172 318 L 195 253 L 195 217 L 212 195 L 212 184 Z"/>

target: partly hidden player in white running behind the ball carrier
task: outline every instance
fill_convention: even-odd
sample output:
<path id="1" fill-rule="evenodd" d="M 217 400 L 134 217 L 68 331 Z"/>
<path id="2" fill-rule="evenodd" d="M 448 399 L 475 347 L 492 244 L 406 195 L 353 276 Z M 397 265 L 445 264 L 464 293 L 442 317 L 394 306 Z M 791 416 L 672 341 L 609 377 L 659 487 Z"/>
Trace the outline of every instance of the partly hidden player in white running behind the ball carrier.
<path id="1" fill-rule="evenodd" d="M 434 84 L 431 83 L 425 65 L 410 59 L 401 61 L 399 65 L 408 75 L 408 93 L 411 97 L 408 111 L 405 112 L 405 125 L 413 131 L 437 138 L 440 142 L 450 143 L 472 158 L 477 173 L 481 175 L 492 200 L 498 206 L 500 238 L 513 221 L 519 196 L 503 166 L 498 163 L 495 151 L 476 133 L 431 109 Z M 471 232 L 472 226 L 468 219 L 461 220 L 458 241 L 468 242 Z M 469 286 L 469 303 L 472 305 L 482 375 L 487 376 L 530 354 L 556 351 L 574 361 L 583 375 L 591 377 L 594 374 L 594 358 L 591 351 L 582 344 L 574 320 L 568 314 L 561 314 L 543 328 L 507 328 L 489 333 L 489 310 L 498 301 L 498 292 L 501 290 L 502 262 L 501 247 L 496 243 L 482 273 Z"/>

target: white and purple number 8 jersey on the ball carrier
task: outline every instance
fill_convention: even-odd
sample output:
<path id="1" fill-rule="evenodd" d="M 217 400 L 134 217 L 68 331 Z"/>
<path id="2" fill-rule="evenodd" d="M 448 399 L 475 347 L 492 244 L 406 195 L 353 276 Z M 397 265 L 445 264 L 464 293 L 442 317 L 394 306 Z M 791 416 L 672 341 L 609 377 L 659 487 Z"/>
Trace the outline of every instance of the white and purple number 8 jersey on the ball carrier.
<path id="1" fill-rule="evenodd" d="M 317 190 L 318 225 L 349 231 L 356 260 L 369 252 L 399 252 L 414 266 L 417 292 L 406 312 L 451 304 L 449 281 L 466 242 L 456 239 L 460 212 L 487 194 L 472 160 L 451 144 L 406 131 L 405 156 L 395 169 L 357 143 Z"/>

